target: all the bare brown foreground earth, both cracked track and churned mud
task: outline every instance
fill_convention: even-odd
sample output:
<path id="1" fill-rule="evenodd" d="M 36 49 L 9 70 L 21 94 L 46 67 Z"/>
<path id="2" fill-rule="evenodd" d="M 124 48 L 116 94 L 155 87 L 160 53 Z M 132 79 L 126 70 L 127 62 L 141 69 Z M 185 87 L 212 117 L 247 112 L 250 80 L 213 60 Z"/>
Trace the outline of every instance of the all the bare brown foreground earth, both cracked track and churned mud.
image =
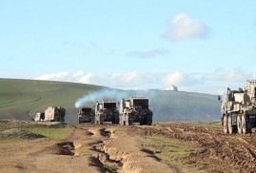
<path id="1" fill-rule="evenodd" d="M 156 153 L 163 151 L 153 147 L 155 144 L 148 137 L 173 139 L 196 147 L 182 158 L 186 166 L 175 167 L 157 157 Z M 193 123 L 74 125 L 67 139 L 0 144 L 0 172 L 252 173 L 256 172 L 254 144 L 255 133 L 224 135 L 220 127 Z"/>

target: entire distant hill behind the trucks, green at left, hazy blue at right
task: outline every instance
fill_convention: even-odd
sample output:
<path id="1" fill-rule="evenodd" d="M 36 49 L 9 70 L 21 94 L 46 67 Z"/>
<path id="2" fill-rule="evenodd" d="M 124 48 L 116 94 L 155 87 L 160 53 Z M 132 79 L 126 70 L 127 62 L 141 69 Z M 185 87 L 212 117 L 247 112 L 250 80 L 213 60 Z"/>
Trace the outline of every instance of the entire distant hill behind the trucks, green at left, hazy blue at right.
<path id="1" fill-rule="evenodd" d="M 30 116 L 44 111 L 47 106 L 64 106 L 67 110 L 66 122 L 77 123 L 76 101 L 84 95 L 101 93 L 106 88 L 77 83 L 0 79 L 0 119 L 30 120 Z M 106 94 L 118 98 L 117 102 L 120 97 L 148 97 L 154 122 L 220 119 L 220 103 L 216 95 L 161 90 L 110 90 L 114 92 L 104 92 L 102 97 L 98 96 L 98 101 L 105 99 Z"/>

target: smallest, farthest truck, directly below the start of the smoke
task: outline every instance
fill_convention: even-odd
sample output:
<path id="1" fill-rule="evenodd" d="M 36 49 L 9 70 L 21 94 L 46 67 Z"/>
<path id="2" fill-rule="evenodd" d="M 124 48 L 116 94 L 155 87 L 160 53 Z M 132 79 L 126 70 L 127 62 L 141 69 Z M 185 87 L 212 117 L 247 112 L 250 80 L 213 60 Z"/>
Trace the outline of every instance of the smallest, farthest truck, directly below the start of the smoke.
<path id="1" fill-rule="evenodd" d="M 80 107 L 78 112 L 78 122 L 82 123 L 93 123 L 94 112 L 91 107 Z"/>

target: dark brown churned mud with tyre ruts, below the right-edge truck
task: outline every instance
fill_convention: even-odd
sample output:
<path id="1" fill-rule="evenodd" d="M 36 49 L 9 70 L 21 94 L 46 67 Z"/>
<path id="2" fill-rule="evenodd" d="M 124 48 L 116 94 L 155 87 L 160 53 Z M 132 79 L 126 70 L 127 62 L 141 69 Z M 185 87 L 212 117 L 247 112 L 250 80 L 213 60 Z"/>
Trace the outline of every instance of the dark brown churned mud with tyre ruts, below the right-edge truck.
<path id="1" fill-rule="evenodd" d="M 197 144 L 187 163 L 208 172 L 255 172 L 256 134 L 224 134 L 221 128 L 208 128 L 188 123 L 173 123 L 147 127 L 134 126 L 142 135 L 162 136 L 181 142 Z"/>

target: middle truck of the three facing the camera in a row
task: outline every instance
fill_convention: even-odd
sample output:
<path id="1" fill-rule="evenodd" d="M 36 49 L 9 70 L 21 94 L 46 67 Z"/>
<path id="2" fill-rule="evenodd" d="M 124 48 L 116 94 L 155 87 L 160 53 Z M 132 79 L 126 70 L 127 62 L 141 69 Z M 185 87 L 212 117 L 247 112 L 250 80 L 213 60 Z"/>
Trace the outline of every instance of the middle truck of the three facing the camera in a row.
<path id="1" fill-rule="evenodd" d="M 94 124 L 119 124 L 119 113 L 113 100 L 96 103 Z"/>

